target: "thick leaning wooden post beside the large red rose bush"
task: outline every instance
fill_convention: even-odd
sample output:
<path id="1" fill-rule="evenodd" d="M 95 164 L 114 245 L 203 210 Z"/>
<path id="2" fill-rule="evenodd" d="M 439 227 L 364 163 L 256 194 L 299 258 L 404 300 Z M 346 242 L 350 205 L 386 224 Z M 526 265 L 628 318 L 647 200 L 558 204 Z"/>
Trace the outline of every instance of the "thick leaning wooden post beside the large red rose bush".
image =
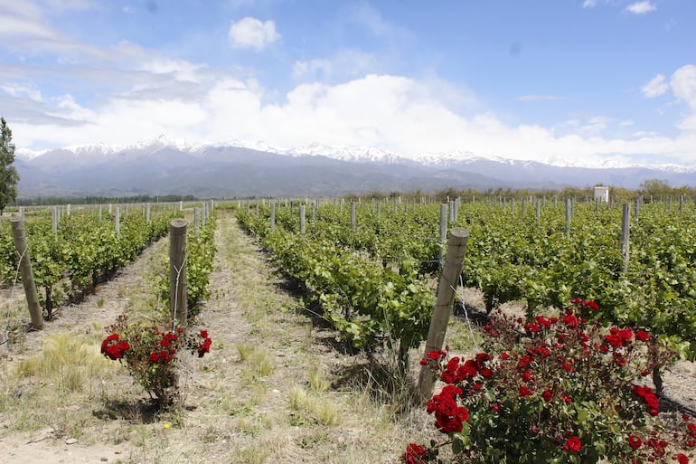
<path id="1" fill-rule="evenodd" d="M 440 281 L 437 284 L 437 302 L 433 309 L 433 317 L 428 328 L 428 340 L 426 341 L 426 355 L 431 351 L 442 349 L 447 334 L 449 314 L 455 302 L 455 289 L 458 284 L 459 274 L 462 272 L 466 241 L 469 240 L 469 231 L 456 227 L 449 234 L 447 242 L 447 260 L 442 270 Z M 423 401 L 428 400 L 433 394 L 435 374 L 431 365 L 420 368 L 419 392 Z"/>

